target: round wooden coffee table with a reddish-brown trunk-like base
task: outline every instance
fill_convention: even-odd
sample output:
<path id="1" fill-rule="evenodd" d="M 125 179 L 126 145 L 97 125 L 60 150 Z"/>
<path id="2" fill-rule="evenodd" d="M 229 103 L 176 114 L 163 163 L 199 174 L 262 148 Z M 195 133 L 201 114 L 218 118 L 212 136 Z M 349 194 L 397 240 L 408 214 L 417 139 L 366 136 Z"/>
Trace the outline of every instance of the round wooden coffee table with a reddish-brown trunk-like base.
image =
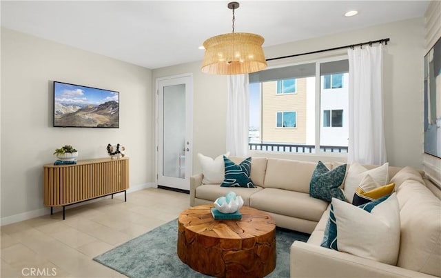
<path id="1" fill-rule="evenodd" d="M 214 220 L 212 205 L 195 206 L 178 218 L 178 257 L 216 277 L 264 277 L 276 268 L 276 222 L 243 206 L 240 220 Z"/>

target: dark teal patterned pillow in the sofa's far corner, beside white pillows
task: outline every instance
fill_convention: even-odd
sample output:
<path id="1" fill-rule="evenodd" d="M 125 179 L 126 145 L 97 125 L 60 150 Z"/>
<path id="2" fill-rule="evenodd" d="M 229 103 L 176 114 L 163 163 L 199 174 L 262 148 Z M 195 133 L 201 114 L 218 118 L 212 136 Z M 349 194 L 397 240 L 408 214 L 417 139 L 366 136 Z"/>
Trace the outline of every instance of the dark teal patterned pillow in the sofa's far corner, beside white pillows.
<path id="1" fill-rule="evenodd" d="M 309 183 L 309 196 L 331 201 L 332 197 L 346 201 L 343 190 L 338 188 L 345 179 L 346 164 L 329 170 L 322 161 L 318 161 Z"/>

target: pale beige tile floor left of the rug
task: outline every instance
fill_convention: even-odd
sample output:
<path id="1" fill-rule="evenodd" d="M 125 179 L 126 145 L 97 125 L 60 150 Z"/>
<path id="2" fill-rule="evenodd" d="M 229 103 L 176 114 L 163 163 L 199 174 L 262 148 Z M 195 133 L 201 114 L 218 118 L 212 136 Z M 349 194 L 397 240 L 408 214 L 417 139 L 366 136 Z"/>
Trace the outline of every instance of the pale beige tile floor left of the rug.
<path id="1" fill-rule="evenodd" d="M 147 188 L 2 226 L 0 277 L 125 277 L 92 258 L 178 217 L 189 195 Z"/>

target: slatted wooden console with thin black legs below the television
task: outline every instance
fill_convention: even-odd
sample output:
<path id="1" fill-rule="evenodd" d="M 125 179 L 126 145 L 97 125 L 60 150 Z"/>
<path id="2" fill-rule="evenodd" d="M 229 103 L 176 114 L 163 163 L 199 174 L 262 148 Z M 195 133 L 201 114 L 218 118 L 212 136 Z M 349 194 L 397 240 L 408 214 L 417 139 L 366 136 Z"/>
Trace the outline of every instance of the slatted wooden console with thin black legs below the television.
<path id="1" fill-rule="evenodd" d="M 124 192 L 127 201 L 129 188 L 129 159 L 90 159 L 79 160 L 73 165 L 46 164 L 44 174 L 44 205 L 54 206 L 81 203 L 107 195 Z"/>

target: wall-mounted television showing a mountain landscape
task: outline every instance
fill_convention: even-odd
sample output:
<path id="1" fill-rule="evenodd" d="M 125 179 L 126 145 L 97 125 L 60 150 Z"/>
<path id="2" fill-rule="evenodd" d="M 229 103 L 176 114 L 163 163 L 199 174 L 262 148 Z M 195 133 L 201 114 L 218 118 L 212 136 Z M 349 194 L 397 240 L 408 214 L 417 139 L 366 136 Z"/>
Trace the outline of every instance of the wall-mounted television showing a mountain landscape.
<path id="1" fill-rule="evenodd" d="M 54 127 L 119 128 L 119 92 L 54 81 Z"/>

